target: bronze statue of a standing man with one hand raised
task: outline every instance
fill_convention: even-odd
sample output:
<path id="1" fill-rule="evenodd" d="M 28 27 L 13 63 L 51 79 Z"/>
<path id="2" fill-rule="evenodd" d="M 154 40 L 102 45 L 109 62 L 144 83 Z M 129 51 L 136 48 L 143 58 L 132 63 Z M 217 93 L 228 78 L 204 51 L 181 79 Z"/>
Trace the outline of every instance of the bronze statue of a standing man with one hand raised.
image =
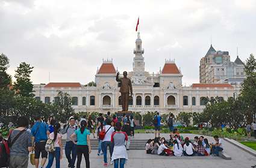
<path id="1" fill-rule="evenodd" d="M 120 93 L 122 100 L 122 111 L 128 111 L 129 94 L 133 95 L 131 80 L 127 77 L 127 72 L 123 72 L 123 77 L 119 79 L 119 72 L 116 74 L 116 82 L 120 82 Z"/>

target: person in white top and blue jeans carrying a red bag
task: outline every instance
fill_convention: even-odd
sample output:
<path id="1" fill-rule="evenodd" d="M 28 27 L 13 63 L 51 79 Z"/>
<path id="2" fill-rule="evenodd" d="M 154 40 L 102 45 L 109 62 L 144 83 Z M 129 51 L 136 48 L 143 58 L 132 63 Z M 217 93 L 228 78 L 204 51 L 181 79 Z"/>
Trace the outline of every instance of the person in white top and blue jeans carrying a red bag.
<path id="1" fill-rule="evenodd" d="M 106 167 L 106 166 L 108 166 L 107 147 L 110 149 L 110 158 L 113 153 L 113 146 L 111 145 L 111 135 L 114 132 L 114 127 L 111 126 L 110 119 L 107 119 L 105 122 L 106 122 L 106 125 L 103 128 L 103 129 L 105 129 L 105 137 L 102 140 L 101 149 L 102 149 L 103 155 L 104 155 L 104 166 Z"/>

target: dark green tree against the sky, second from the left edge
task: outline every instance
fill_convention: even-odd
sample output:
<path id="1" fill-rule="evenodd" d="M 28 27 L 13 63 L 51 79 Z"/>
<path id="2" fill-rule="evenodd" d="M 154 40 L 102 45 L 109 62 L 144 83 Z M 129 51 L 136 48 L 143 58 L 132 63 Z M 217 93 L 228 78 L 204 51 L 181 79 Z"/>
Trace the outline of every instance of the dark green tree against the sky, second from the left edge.
<path id="1" fill-rule="evenodd" d="M 33 84 L 30 80 L 30 74 L 32 73 L 34 67 L 30 67 L 30 64 L 22 62 L 15 70 L 16 82 L 14 82 L 14 89 L 18 95 L 25 97 L 34 97 L 33 94 Z"/>

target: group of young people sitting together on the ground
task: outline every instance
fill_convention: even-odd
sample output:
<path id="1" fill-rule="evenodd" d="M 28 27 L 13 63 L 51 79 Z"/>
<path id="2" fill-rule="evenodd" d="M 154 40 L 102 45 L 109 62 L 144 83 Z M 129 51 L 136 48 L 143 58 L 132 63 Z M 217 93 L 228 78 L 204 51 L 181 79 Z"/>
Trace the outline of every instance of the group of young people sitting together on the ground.
<path id="1" fill-rule="evenodd" d="M 175 128 L 170 134 L 169 141 L 164 137 L 155 137 L 146 142 L 146 154 L 165 155 L 165 156 L 218 156 L 223 151 L 222 139 L 214 136 L 214 142 L 211 144 L 204 136 L 195 136 L 193 142 L 186 137 L 180 136 Z"/>

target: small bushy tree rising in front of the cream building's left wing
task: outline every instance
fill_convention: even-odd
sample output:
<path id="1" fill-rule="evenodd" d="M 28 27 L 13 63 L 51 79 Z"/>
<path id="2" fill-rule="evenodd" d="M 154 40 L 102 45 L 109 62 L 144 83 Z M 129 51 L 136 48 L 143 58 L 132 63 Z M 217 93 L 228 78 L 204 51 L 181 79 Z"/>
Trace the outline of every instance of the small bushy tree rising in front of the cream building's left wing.
<path id="1" fill-rule="evenodd" d="M 54 106 L 58 109 L 56 118 L 61 122 L 66 122 L 67 118 L 74 115 L 72 98 L 66 92 L 58 91 L 56 99 L 58 100 L 54 102 Z"/>

